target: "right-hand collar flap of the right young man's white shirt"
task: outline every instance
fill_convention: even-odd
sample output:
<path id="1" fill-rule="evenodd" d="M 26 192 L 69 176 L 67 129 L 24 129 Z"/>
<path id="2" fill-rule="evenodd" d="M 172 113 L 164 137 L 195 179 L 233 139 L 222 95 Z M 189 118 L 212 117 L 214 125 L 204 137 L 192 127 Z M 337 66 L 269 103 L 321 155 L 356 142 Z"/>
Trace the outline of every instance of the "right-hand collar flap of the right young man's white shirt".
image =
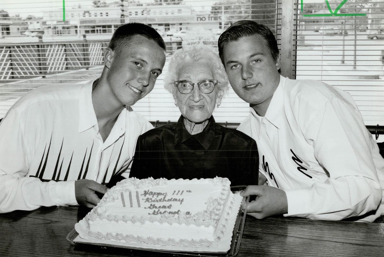
<path id="1" fill-rule="evenodd" d="M 268 109 L 265 113 L 265 118 L 278 129 L 281 127 L 281 110 L 283 109 L 284 84 L 285 77 L 280 75 L 280 83 L 277 86 L 275 93 L 273 93 L 271 102 L 269 103 Z"/>

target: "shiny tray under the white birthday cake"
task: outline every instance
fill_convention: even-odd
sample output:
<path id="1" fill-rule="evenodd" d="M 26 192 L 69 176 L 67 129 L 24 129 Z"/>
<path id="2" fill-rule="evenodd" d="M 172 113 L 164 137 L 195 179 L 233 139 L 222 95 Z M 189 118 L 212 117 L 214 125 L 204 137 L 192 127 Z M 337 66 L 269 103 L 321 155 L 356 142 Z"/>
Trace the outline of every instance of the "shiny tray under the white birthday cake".
<path id="1" fill-rule="evenodd" d="M 232 192 L 240 192 L 245 189 L 246 186 L 234 186 L 231 187 Z M 243 229 L 244 229 L 244 222 L 245 217 L 247 214 L 247 203 L 249 201 L 248 197 L 243 197 L 242 205 L 240 206 L 240 209 L 237 214 L 237 219 L 235 222 L 235 226 L 233 227 L 233 234 L 232 234 L 232 241 L 230 245 L 230 249 L 228 252 L 204 252 L 204 251 L 195 251 L 195 252 L 181 252 L 181 251 L 172 251 L 172 250 L 158 250 L 158 249 L 150 249 L 150 248 L 139 248 L 139 247 L 131 247 L 126 245 L 114 245 L 113 242 L 109 241 L 106 244 L 102 244 L 99 242 L 91 242 L 91 241 L 78 241 L 76 240 L 79 237 L 78 232 L 73 229 L 68 235 L 67 240 L 71 242 L 71 244 L 75 246 L 85 246 L 85 245 L 94 245 L 99 246 L 102 249 L 109 249 L 112 250 L 113 248 L 118 248 L 119 252 L 121 253 L 121 250 L 126 249 L 126 254 L 135 254 L 136 255 L 147 255 L 147 256 L 153 256 L 153 253 L 158 253 L 159 256 L 202 256 L 202 257 L 233 257 L 235 256 L 239 249 L 240 249 L 240 242 L 243 235 Z M 108 250 L 107 250 L 108 252 Z M 146 254 L 145 254 L 146 252 Z M 142 253 L 142 254 L 141 254 Z M 151 254 L 152 253 L 152 254 Z M 164 255 L 162 255 L 164 254 Z M 133 256 L 133 255 L 132 255 Z"/>

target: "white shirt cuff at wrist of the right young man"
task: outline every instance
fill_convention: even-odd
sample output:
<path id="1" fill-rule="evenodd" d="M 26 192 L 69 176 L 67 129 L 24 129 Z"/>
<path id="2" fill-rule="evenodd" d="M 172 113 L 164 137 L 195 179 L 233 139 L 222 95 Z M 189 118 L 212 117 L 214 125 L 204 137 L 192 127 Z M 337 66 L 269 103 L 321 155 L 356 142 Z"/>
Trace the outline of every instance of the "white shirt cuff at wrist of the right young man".
<path id="1" fill-rule="evenodd" d="M 283 214 L 284 217 L 298 216 L 307 217 L 310 213 L 311 201 L 310 190 L 308 189 L 285 189 L 287 196 L 288 213 Z"/>

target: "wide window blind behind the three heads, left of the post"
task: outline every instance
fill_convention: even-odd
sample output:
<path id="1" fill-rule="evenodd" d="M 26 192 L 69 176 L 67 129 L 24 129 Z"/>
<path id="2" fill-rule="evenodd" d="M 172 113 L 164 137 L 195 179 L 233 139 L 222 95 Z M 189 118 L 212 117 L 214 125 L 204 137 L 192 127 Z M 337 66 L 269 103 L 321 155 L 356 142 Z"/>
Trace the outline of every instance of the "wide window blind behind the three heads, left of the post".
<path id="1" fill-rule="evenodd" d="M 0 118 L 33 88 L 99 77 L 103 50 L 123 23 L 148 24 L 167 45 L 163 74 L 152 92 L 132 106 L 152 121 L 176 121 L 180 116 L 163 88 L 170 57 L 178 48 L 202 43 L 217 50 L 220 34 L 242 19 L 268 25 L 280 47 L 281 3 L 276 0 L 66 0 L 64 8 L 53 0 L 6 0 L 0 10 Z M 214 117 L 217 122 L 241 122 L 248 113 L 248 104 L 230 89 Z"/>

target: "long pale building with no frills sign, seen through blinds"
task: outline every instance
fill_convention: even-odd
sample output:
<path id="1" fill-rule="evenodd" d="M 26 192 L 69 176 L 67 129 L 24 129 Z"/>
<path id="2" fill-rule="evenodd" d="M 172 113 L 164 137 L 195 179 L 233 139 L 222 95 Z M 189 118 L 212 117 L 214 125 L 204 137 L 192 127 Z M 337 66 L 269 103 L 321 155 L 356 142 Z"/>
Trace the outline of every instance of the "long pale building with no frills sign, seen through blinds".
<path id="1" fill-rule="evenodd" d="M 155 28 L 159 33 L 189 30 L 198 23 L 207 30 L 217 30 L 220 15 L 212 15 L 209 11 L 195 12 L 187 4 L 155 5 L 126 4 L 98 8 L 66 9 L 63 21 L 63 9 L 55 12 L 44 12 L 41 26 L 45 35 L 78 35 L 113 33 L 122 23 L 141 22 Z M 36 24 L 34 25 L 37 26 Z"/>

